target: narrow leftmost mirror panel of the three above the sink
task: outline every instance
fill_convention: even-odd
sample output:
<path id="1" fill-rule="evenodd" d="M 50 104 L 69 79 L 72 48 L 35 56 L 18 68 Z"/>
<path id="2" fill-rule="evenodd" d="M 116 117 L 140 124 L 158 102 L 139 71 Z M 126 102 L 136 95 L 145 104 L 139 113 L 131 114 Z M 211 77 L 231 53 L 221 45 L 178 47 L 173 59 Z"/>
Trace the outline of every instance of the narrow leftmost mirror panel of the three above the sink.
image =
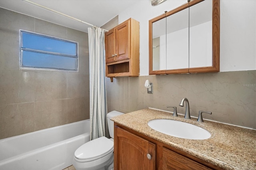
<path id="1" fill-rule="evenodd" d="M 153 70 L 166 69 L 166 18 L 152 24 Z"/>

